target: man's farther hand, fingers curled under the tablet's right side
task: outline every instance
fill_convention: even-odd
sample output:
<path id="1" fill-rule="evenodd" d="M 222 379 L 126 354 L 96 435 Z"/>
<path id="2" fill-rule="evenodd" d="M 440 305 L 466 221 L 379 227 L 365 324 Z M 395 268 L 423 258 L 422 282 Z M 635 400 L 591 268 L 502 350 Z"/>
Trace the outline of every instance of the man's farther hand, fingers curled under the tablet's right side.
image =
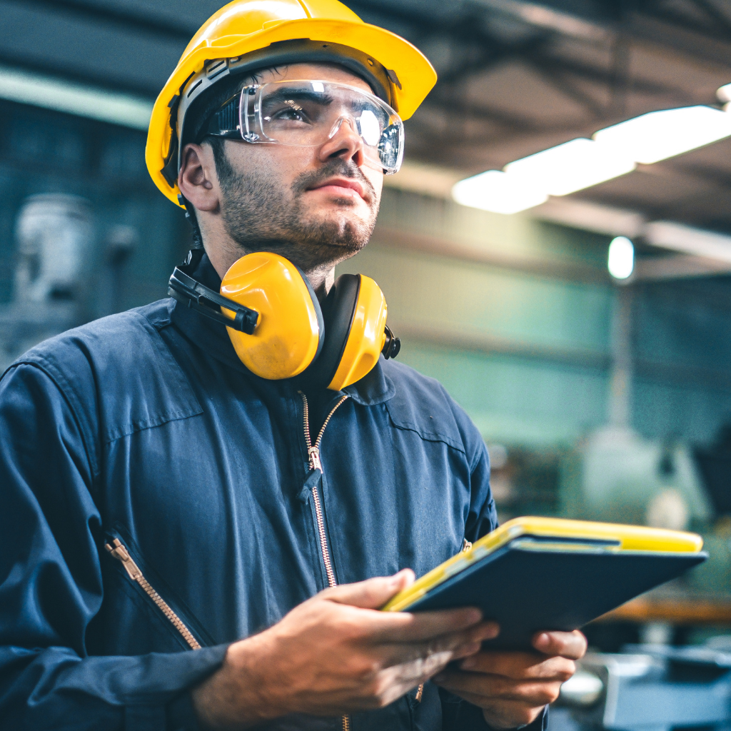
<path id="1" fill-rule="evenodd" d="M 481 651 L 434 678 L 442 688 L 482 708 L 485 721 L 510 729 L 537 719 L 546 703 L 558 698 L 561 683 L 586 652 L 581 632 L 539 632 L 538 653 Z"/>

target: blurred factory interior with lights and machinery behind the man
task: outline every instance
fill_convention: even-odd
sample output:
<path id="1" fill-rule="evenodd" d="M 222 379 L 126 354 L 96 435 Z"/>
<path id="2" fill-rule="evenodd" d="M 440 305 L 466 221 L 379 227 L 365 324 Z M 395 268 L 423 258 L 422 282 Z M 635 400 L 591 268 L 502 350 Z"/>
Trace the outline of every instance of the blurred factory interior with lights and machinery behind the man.
<path id="1" fill-rule="evenodd" d="M 376 279 L 399 359 L 480 428 L 501 520 L 702 534 L 707 564 L 588 627 L 595 651 L 731 651 L 731 1 L 345 2 L 439 83 L 406 122 L 373 240 L 338 272 Z M 218 7 L 0 0 L 1 369 L 166 296 L 190 234 L 148 177 L 145 130 Z M 609 161 L 533 159 L 540 184 L 512 188 L 512 162 L 686 108 L 699 116 L 671 132 L 615 135 Z M 700 688 L 723 680 L 721 655 Z M 615 727 L 731 723 L 731 703 L 723 723 L 683 703 Z"/>

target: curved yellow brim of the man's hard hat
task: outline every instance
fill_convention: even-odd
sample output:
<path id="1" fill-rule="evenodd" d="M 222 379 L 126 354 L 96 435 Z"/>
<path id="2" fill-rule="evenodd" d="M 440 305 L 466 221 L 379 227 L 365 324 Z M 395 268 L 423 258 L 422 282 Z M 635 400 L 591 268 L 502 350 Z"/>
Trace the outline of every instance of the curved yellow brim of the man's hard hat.
<path id="1" fill-rule="evenodd" d="M 398 113 L 408 119 L 419 107 L 436 83 L 436 72 L 426 56 L 406 39 L 369 23 L 349 20 L 306 18 L 281 20 L 247 35 L 230 35 L 213 42 L 202 40 L 192 49 L 186 49 L 181 63 L 167 80 L 156 99 L 148 129 L 145 162 L 156 186 L 176 205 L 178 186 L 170 186 L 162 175 L 162 168 L 170 148 L 172 128 L 170 106 L 189 77 L 203 69 L 205 61 L 216 58 L 235 58 L 253 50 L 260 50 L 278 41 L 295 38 L 333 42 L 355 48 L 373 56 L 386 69 L 395 73 L 401 88 L 394 87 L 398 99 Z"/>

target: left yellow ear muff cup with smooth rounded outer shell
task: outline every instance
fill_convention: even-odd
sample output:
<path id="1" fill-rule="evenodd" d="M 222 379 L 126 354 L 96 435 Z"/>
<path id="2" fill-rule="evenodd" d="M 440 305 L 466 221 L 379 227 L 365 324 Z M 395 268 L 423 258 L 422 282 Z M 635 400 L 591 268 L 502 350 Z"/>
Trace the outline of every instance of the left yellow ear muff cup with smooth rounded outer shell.
<path id="1" fill-rule="evenodd" d="M 227 327 L 239 360 L 257 376 L 292 378 L 314 360 L 322 346 L 322 312 L 300 270 L 269 251 L 246 254 L 231 265 L 221 295 L 259 313 L 252 335 Z M 226 308 L 221 312 L 233 319 Z"/>

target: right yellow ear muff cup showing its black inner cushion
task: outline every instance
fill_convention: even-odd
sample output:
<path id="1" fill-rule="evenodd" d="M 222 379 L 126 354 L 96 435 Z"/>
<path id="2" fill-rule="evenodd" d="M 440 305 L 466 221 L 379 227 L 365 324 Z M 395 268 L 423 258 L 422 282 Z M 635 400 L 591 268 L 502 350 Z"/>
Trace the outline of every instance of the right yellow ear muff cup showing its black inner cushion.
<path id="1" fill-rule="evenodd" d="M 387 307 L 378 284 L 343 274 L 327 297 L 325 345 L 313 368 L 333 391 L 360 381 L 378 363 L 385 342 Z"/>

